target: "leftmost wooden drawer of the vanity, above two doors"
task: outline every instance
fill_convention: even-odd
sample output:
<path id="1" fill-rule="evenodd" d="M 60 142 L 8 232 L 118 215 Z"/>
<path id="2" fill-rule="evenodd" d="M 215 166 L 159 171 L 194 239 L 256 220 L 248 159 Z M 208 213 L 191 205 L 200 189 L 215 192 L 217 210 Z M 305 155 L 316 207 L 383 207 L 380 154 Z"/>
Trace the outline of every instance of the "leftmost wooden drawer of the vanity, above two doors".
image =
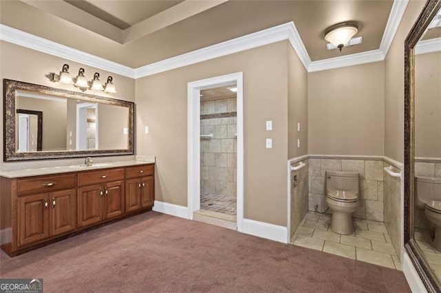
<path id="1" fill-rule="evenodd" d="M 76 187 L 76 175 L 54 175 L 18 180 L 19 195 Z"/>

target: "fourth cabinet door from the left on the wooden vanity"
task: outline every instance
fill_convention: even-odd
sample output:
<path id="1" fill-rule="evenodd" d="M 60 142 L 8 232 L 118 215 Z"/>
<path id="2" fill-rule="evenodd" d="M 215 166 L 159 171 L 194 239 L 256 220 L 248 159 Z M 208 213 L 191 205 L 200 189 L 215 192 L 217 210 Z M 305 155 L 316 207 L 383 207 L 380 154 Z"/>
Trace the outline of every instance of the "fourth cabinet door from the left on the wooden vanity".
<path id="1" fill-rule="evenodd" d="M 119 217 L 124 213 L 124 182 L 107 183 L 104 191 L 104 219 Z"/>

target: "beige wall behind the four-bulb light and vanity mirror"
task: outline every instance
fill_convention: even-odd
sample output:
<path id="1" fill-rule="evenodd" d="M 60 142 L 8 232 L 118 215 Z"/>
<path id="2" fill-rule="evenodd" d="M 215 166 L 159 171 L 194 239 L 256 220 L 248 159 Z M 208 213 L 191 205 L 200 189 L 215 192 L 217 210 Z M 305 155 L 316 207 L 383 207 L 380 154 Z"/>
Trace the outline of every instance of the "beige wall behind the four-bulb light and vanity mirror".
<path id="1" fill-rule="evenodd" d="M 114 77 L 114 85 L 116 87 L 117 94 L 105 94 L 98 91 L 87 91 L 89 94 L 96 94 L 99 96 L 107 96 L 111 98 L 119 98 L 121 100 L 134 101 L 134 79 L 119 76 L 118 74 L 112 74 L 106 72 L 103 69 L 97 69 L 74 61 L 65 60 L 63 58 L 55 57 L 43 52 L 30 50 L 19 45 L 0 41 L 0 77 L 8 78 L 12 80 L 19 80 L 25 83 L 34 83 L 37 85 L 46 85 L 48 87 L 57 87 L 68 89 L 70 91 L 79 91 L 76 87 L 71 85 L 61 85 L 59 83 L 52 83 L 45 74 L 48 72 L 59 73 L 64 63 L 70 65 L 70 73 L 75 75 L 80 67 L 85 69 L 85 76 L 92 79 L 94 72 L 101 74 L 102 80 L 105 80 L 107 76 Z M 3 92 L 3 83 L 0 85 L 1 92 Z M 0 105 L 0 111 L 3 113 L 3 103 Z M 3 138 L 3 119 L 0 120 L 0 136 Z M 0 146 L 0 152 L 3 153 L 3 143 Z M 56 164 L 65 164 L 63 160 L 54 161 Z M 8 162 L 8 169 L 11 169 L 13 165 L 23 163 Z M 47 162 L 36 161 L 32 166 L 47 165 Z M 54 163 L 55 164 L 55 163 Z M 0 166 L 0 169 L 3 167 Z"/>

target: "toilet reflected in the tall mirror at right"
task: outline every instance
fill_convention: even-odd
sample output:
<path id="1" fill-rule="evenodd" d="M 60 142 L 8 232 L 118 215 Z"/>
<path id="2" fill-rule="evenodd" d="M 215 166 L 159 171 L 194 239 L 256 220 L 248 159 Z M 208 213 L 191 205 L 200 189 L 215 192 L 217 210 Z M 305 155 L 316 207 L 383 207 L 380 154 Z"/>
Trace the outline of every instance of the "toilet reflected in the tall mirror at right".
<path id="1" fill-rule="evenodd" d="M 441 178 L 416 177 L 415 206 L 424 208 L 427 219 L 435 227 L 433 248 L 441 252 Z"/>

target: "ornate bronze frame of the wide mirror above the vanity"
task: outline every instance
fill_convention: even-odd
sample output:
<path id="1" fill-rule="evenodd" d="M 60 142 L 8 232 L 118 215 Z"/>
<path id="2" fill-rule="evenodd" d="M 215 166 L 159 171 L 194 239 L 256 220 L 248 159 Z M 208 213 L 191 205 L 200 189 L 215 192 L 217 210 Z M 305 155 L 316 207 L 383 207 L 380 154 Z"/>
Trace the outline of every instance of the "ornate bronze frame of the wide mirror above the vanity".
<path id="1" fill-rule="evenodd" d="M 21 153 L 16 151 L 15 142 L 15 94 L 17 90 L 33 91 L 39 94 L 57 96 L 59 98 L 72 98 L 87 102 L 99 102 L 106 105 L 127 107 L 129 109 L 127 149 L 87 150 L 87 151 L 30 151 Z M 20 162 L 27 160 L 48 160 L 64 158 L 99 157 L 110 155 L 134 155 L 134 102 L 117 100 L 103 96 L 95 96 L 77 91 L 34 85 L 18 80 L 3 79 L 3 162 Z"/>

